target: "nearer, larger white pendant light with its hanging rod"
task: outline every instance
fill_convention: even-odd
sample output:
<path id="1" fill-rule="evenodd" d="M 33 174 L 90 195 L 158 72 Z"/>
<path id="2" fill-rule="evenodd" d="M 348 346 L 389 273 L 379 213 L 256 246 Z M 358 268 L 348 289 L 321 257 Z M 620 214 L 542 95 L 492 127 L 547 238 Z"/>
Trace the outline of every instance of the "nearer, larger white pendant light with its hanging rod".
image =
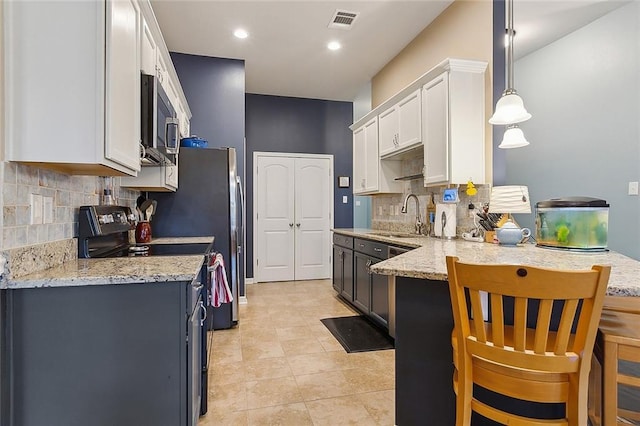
<path id="1" fill-rule="evenodd" d="M 503 126 L 521 123 L 531 118 L 531 114 L 529 114 L 524 107 L 522 98 L 513 88 L 513 36 L 515 34 L 515 31 L 513 30 L 513 0 L 506 0 L 505 4 L 508 40 L 508 46 L 506 50 L 507 88 L 496 103 L 496 110 L 493 113 L 493 116 L 489 119 L 489 123 Z M 517 129 L 517 126 L 515 128 L 508 128 L 507 132 L 513 129 Z M 516 131 L 512 132 L 512 134 L 514 133 L 522 133 L 522 130 L 517 129 Z M 524 136 L 522 137 L 522 140 L 526 142 Z M 528 142 L 526 143 L 526 145 L 528 145 Z M 502 144 L 500 146 L 502 147 Z"/>

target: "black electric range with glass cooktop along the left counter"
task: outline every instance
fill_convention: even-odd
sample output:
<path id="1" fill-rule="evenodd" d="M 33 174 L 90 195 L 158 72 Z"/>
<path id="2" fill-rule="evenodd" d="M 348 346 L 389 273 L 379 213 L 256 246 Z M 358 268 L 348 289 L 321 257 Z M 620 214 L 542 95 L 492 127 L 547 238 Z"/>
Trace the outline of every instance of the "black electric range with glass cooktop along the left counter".
<path id="1" fill-rule="evenodd" d="M 195 283 L 207 283 L 200 294 L 203 302 L 208 300 L 208 266 L 213 255 L 211 243 L 165 243 L 130 244 L 129 230 L 133 227 L 134 217 L 125 206 L 82 206 L 78 217 L 78 257 L 79 258 L 119 258 L 145 256 L 202 255 L 203 263 L 200 277 Z M 194 293 L 196 294 L 196 293 Z M 200 415 L 207 412 L 208 394 L 208 351 L 207 327 L 200 322 Z M 194 407 L 195 408 L 195 407 Z"/>

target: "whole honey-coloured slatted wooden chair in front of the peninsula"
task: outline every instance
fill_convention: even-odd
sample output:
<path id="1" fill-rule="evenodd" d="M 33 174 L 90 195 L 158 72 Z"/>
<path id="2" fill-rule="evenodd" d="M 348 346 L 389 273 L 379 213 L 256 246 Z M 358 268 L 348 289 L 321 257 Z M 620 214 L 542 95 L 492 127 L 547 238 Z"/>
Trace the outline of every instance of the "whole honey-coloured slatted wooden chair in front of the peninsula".
<path id="1" fill-rule="evenodd" d="M 591 354 L 610 267 L 558 271 L 470 265 L 448 256 L 447 270 L 457 357 L 456 425 L 470 425 L 472 411 L 502 424 L 586 425 Z M 489 295 L 489 321 L 482 319 L 481 291 Z M 513 325 L 505 315 L 508 299 L 514 304 Z M 552 316 L 554 302 L 561 305 L 559 319 Z M 528 310 L 535 327 L 527 324 Z M 477 399 L 474 385 L 524 401 L 564 403 L 564 417 L 552 421 L 510 413 Z"/>

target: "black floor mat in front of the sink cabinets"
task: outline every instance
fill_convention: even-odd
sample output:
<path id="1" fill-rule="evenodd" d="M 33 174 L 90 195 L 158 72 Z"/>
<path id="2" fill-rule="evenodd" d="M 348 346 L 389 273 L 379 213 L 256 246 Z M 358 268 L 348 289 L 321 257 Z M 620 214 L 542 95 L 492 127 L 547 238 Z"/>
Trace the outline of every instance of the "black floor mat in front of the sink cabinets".
<path id="1" fill-rule="evenodd" d="M 320 321 L 349 353 L 393 349 L 393 340 L 362 315 Z"/>

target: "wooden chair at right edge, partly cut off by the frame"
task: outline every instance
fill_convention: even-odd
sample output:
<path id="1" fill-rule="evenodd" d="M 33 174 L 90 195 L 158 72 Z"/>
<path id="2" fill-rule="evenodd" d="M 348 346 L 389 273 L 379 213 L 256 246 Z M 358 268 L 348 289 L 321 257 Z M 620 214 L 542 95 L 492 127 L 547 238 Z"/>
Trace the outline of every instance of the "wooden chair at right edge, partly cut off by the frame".
<path id="1" fill-rule="evenodd" d="M 594 355 L 602 365 L 602 375 L 596 380 L 602 383 L 602 389 L 592 389 L 601 398 L 593 402 L 602 406 L 602 417 L 598 407 L 592 413 L 592 423 L 640 424 L 640 315 L 603 310 Z M 619 395 L 618 385 L 625 386 L 622 391 L 626 395 Z M 623 404 L 621 396 L 626 396 Z"/>

